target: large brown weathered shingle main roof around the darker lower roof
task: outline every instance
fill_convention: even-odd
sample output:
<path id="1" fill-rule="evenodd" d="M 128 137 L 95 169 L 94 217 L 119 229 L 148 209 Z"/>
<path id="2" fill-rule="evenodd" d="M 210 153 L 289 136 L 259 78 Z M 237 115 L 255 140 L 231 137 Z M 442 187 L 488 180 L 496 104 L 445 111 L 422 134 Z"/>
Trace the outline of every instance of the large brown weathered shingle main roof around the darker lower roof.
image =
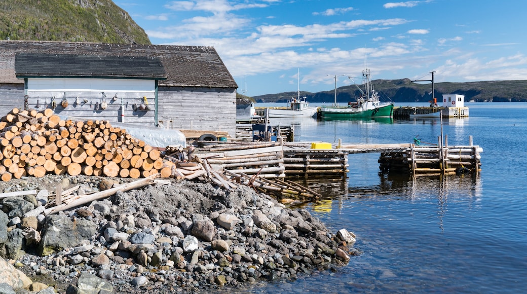
<path id="1" fill-rule="evenodd" d="M 0 83 L 23 83 L 15 75 L 21 53 L 159 58 L 166 73 L 160 86 L 238 87 L 214 47 L 47 41 L 0 41 Z"/>

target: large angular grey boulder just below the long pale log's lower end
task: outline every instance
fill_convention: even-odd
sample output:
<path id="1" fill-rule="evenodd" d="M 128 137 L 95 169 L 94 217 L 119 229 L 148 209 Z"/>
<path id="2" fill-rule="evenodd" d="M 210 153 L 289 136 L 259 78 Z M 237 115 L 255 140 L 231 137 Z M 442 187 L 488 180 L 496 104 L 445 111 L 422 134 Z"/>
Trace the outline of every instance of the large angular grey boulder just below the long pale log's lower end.
<path id="1" fill-rule="evenodd" d="M 82 241 L 91 239 L 96 231 L 96 225 L 89 220 L 72 220 L 63 214 L 48 215 L 39 252 L 42 256 L 47 256 L 65 248 L 78 246 Z"/>

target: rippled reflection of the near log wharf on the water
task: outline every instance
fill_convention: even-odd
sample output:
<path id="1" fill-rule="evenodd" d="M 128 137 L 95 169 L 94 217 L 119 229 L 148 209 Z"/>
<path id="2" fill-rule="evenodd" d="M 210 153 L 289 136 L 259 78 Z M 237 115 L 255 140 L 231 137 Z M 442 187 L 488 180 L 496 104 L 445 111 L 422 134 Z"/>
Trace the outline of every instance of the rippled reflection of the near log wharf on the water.
<path id="1" fill-rule="evenodd" d="M 415 203 L 436 201 L 438 226 L 444 232 L 444 217 L 449 202 L 462 202 L 466 209 L 474 209 L 482 198 L 480 174 L 397 174 L 378 173 L 379 183 L 366 187 L 350 185 L 348 178 L 311 177 L 294 179 L 295 182 L 320 193 L 317 201 L 299 200 L 290 203 L 294 208 L 310 208 L 318 214 L 343 213 L 350 202 L 409 201 Z M 381 203 L 378 203 L 382 205 Z M 353 204 L 352 204 L 353 205 Z"/>

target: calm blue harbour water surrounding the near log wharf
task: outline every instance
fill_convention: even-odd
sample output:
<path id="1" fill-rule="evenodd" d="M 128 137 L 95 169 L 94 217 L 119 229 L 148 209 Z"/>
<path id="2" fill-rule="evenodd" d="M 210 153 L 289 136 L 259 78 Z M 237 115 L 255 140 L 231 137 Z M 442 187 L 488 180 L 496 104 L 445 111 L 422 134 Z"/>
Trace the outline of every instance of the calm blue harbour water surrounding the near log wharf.
<path id="1" fill-rule="evenodd" d="M 443 133 L 449 145 L 473 136 L 479 175 L 387 175 L 379 154 L 350 154 L 347 179 L 304 182 L 324 199 L 303 205 L 333 232 L 353 231 L 362 254 L 336 272 L 252 292 L 527 291 L 527 103 L 467 106 L 470 117 L 444 119 Z M 436 143 L 441 134 L 439 119 L 279 122 L 295 124 L 296 141 Z"/>

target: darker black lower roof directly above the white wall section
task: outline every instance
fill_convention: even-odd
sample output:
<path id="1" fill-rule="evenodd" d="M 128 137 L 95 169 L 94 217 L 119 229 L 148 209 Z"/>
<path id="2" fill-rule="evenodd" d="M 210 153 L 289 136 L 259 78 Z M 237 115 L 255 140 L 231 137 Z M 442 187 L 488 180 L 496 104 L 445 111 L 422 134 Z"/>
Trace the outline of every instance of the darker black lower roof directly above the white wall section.
<path id="1" fill-rule="evenodd" d="M 17 77 L 126 77 L 166 80 L 158 57 L 16 53 Z"/>

